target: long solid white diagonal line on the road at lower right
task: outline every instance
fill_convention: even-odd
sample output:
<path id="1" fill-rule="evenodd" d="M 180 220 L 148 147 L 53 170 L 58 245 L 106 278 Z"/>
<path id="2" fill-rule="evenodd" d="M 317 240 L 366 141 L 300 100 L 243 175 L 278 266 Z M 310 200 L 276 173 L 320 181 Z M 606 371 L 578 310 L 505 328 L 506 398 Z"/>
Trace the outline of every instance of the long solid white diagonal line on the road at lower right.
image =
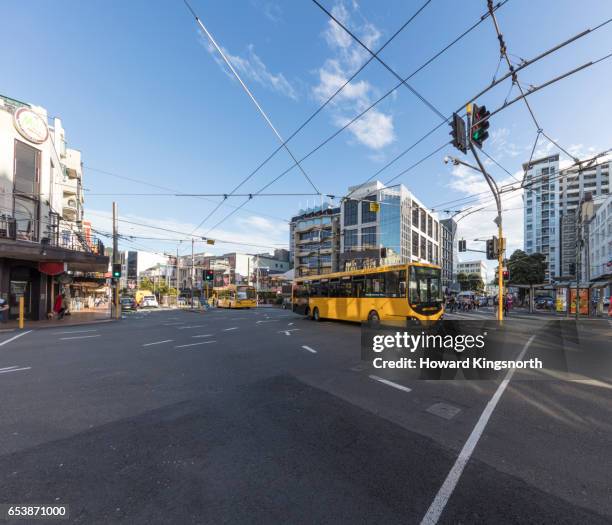
<path id="1" fill-rule="evenodd" d="M 535 334 L 532 335 L 525 343 L 525 346 L 523 346 L 521 353 L 516 358 L 517 361 L 521 361 L 523 359 L 525 353 L 527 352 L 527 349 L 531 345 L 531 342 L 534 340 L 534 338 Z M 440 487 L 440 490 L 436 494 L 436 497 L 429 506 L 427 513 L 421 521 L 421 525 L 434 525 L 435 523 L 438 523 L 438 520 L 440 519 L 440 516 L 444 511 L 444 507 L 446 507 L 448 500 L 452 496 L 453 491 L 457 486 L 457 482 L 459 481 L 459 478 L 463 473 L 463 469 L 467 465 L 467 462 L 470 460 L 470 457 L 472 456 L 472 453 L 474 452 L 474 449 L 478 444 L 478 440 L 480 439 L 480 436 L 482 436 L 482 433 L 485 427 L 487 426 L 489 418 L 491 417 L 491 414 L 493 414 L 497 403 L 499 403 L 501 396 L 503 395 L 504 391 L 506 390 L 506 387 L 510 383 L 510 380 L 514 375 L 515 370 L 515 368 L 510 368 L 508 370 L 508 372 L 506 373 L 506 377 L 499 384 L 497 390 L 495 391 L 495 394 L 493 394 L 493 397 L 487 403 L 487 406 L 482 411 L 482 414 L 480 414 L 480 418 L 478 419 L 476 426 L 474 427 L 472 433 L 463 445 L 463 448 L 461 449 L 459 457 L 455 461 L 453 468 L 451 468 L 450 472 L 448 473 L 448 476 L 446 476 L 446 479 L 444 480 L 444 483 Z"/>

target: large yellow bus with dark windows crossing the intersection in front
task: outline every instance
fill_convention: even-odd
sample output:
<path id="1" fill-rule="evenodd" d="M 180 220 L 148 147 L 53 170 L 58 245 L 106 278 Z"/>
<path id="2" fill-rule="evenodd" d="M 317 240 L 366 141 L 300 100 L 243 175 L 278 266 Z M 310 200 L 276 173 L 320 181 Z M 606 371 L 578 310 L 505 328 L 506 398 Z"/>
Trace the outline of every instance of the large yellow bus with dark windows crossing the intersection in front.
<path id="1" fill-rule="evenodd" d="M 443 315 L 439 266 L 409 263 L 300 277 L 293 311 L 343 321 L 436 321 Z"/>

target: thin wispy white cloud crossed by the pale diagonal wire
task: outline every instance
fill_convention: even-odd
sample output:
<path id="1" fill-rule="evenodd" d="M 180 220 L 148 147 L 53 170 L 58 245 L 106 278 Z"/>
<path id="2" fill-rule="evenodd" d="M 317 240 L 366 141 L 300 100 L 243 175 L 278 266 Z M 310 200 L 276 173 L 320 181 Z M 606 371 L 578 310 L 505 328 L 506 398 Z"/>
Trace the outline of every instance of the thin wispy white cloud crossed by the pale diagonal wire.
<path id="1" fill-rule="evenodd" d="M 219 66 L 230 78 L 234 78 L 233 74 L 231 71 L 229 71 L 228 67 L 223 61 L 223 58 L 219 56 L 219 53 L 208 40 L 206 35 L 203 34 L 202 38 L 205 39 L 206 49 L 208 49 L 208 52 L 213 56 L 217 64 L 219 64 Z M 238 73 L 244 77 L 244 80 L 252 80 L 257 82 L 261 86 L 264 86 L 271 91 L 275 91 L 276 93 L 280 93 L 281 95 L 284 95 L 292 100 L 297 100 L 299 98 L 296 89 L 282 73 L 274 74 L 268 70 L 268 67 L 263 60 L 257 53 L 255 53 L 255 47 L 253 44 L 248 45 L 246 55 L 244 56 L 233 55 L 222 46 L 221 49 L 236 71 L 238 71 Z"/>

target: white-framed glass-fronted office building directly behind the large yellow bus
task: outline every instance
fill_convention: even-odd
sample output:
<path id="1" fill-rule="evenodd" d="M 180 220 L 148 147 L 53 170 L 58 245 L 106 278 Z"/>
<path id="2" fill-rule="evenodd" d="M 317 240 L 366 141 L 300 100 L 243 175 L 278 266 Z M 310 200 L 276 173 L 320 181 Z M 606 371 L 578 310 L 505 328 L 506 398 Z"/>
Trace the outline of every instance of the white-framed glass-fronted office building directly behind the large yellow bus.
<path id="1" fill-rule="evenodd" d="M 410 261 L 440 263 L 440 224 L 404 185 L 349 188 L 342 203 L 340 269 Z"/>

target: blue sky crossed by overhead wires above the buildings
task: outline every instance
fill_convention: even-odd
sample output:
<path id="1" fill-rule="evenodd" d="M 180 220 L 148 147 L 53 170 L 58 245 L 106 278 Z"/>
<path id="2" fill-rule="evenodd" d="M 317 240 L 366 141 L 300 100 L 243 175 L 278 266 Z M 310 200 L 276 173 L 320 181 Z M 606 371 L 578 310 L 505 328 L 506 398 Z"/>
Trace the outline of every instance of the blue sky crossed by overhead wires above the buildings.
<path id="1" fill-rule="evenodd" d="M 326 0 L 324 5 L 377 49 L 422 3 Z M 192 5 L 283 136 L 318 107 L 336 82 L 368 58 L 307 0 L 192 0 Z M 381 56 L 400 75 L 407 75 L 472 25 L 485 9 L 484 1 L 432 0 Z M 0 32 L 0 46 L 5 50 L 0 55 L 0 93 L 44 106 L 50 115 L 63 119 L 69 145 L 83 152 L 86 214 L 94 226 L 108 228 L 103 215 L 110 213 L 113 200 L 96 194 L 161 191 L 94 169 L 183 192 L 224 193 L 278 145 L 179 0 L 5 0 L 2 12 L 10 24 L 3 24 Z M 603 0 L 510 0 L 498 11 L 509 52 L 517 61 L 610 17 L 612 4 Z M 526 69 L 520 79 L 524 85 L 537 85 L 610 52 L 612 24 Z M 418 73 L 411 85 L 448 115 L 491 82 L 498 60 L 497 39 L 487 20 Z M 531 97 L 544 130 L 573 153 L 586 155 L 612 147 L 611 63 L 602 62 Z M 503 64 L 500 71 L 505 71 Z M 291 150 L 301 158 L 396 83 L 388 71 L 372 62 L 343 96 L 290 142 Z M 497 107 L 508 89 L 505 83 L 482 102 Z M 304 169 L 324 193 L 342 195 L 349 185 L 370 177 L 439 122 L 434 112 L 401 87 L 305 161 Z M 443 126 L 379 178 L 386 182 L 441 146 L 449 139 L 448 131 Z M 525 107 L 516 104 L 496 116 L 490 132 L 485 149 L 511 172 L 519 171 L 535 137 Z M 538 150 L 553 151 L 545 141 Z M 449 147 L 398 179 L 428 206 L 464 197 L 482 184 L 464 170 L 445 165 L 445 154 L 455 152 Z M 257 191 L 291 163 L 286 152 L 279 152 L 243 190 Z M 495 166 L 491 172 L 499 180 L 508 178 Z M 310 192 L 311 187 L 294 169 L 268 191 Z M 282 219 L 304 207 L 307 198 L 254 199 L 209 236 L 262 246 L 286 243 L 288 228 Z M 314 198 L 309 199 L 312 203 Z M 115 200 L 124 218 L 189 233 L 217 199 L 118 195 Z M 229 202 L 239 205 L 242 199 Z M 520 198 L 507 205 L 511 247 L 522 241 L 522 214 L 511 209 L 517 206 Z M 229 211 L 222 207 L 200 232 L 207 233 Z M 466 238 L 489 235 L 492 218 L 489 211 L 470 216 L 461 223 L 463 234 Z M 178 237 L 129 224 L 122 224 L 122 231 Z M 174 242 L 138 242 L 140 247 L 158 250 L 176 247 Z M 213 251 L 234 248 L 218 244 Z M 181 251 L 186 251 L 185 245 Z"/>

